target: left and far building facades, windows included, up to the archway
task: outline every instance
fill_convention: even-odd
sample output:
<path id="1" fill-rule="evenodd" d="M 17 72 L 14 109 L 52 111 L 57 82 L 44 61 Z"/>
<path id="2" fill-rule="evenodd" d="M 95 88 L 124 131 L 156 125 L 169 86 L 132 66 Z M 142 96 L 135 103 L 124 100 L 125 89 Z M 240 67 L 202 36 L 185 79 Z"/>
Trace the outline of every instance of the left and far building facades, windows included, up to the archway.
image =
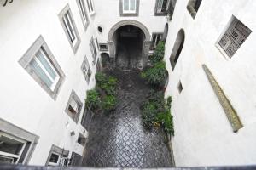
<path id="1" fill-rule="evenodd" d="M 1 1 L 0 138 L 15 142 L 1 150 L 3 162 L 54 166 L 72 158 L 69 164 L 79 165 L 88 136 L 86 91 L 95 86 L 102 52 L 115 57 L 109 35 L 119 26 L 139 26 L 147 31 L 148 47 L 152 32 L 163 32 L 166 23 L 166 16 L 154 14 L 155 4 Z"/>

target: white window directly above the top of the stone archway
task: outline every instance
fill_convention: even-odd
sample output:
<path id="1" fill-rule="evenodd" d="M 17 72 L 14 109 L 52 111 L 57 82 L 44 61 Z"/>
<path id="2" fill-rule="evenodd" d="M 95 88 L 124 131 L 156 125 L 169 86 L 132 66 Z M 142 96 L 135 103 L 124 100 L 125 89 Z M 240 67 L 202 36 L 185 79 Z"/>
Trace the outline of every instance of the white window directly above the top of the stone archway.
<path id="1" fill-rule="evenodd" d="M 121 16 L 137 16 L 139 0 L 119 0 L 119 12 Z"/>

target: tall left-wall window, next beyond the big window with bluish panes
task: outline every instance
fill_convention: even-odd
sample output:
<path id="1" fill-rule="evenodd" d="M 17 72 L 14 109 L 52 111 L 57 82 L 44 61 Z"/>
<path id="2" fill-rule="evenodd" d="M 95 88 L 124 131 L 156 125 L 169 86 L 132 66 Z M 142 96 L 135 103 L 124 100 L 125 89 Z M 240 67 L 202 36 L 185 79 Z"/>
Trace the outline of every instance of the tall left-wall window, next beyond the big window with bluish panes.
<path id="1" fill-rule="evenodd" d="M 68 4 L 61 10 L 59 18 L 61 20 L 61 26 L 66 33 L 68 42 L 70 43 L 73 52 L 76 53 L 79 48 L 80 37 L 79 32 L 74 24 L 73 15 Z"/>

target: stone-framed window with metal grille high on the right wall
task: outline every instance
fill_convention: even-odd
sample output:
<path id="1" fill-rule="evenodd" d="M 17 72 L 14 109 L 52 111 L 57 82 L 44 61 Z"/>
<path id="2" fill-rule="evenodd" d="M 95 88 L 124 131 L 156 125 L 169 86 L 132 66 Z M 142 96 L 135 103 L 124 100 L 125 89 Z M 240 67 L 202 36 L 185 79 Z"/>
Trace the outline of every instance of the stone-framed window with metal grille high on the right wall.
<path id="1" fill-rule="evenodd" d="M 217 47 L 221 52 L 231 58 L 236 54 L 236 51 L 241 47 L 241 44 L 246 41 L 251 32 L 252 31 L 241 23 L 240 20 L 232 16 L 229 27 L 218 40 Z"/>

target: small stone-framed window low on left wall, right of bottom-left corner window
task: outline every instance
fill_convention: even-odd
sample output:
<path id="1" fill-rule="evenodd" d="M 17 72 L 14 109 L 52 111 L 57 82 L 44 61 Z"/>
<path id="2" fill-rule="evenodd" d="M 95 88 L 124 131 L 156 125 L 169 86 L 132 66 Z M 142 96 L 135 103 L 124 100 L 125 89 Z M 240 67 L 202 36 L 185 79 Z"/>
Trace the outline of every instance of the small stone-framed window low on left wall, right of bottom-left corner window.
<path id="1" fill-rule="evenodd" d="M 64 150 L 64 148 L 60 148 L 53 144 L 51 146 L 51 149 L 49 150 L 49 156 L 46 161 L 46 166 L 67 166 L 68 153 L 68 150 Z"/>

